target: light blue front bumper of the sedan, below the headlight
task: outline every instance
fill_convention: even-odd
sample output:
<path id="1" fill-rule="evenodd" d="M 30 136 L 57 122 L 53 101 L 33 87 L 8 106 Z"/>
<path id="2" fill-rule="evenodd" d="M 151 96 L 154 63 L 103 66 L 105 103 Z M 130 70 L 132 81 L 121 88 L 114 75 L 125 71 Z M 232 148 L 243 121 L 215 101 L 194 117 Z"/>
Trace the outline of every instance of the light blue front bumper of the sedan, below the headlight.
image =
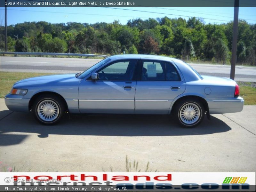
<path id="1" fill-rule="evenodd" d="M 11 111 L 29 112 L 28 103 L 30 99 L 23 98 L 22 95 L 8 94 L 4 98 L 5 105 Z"/>

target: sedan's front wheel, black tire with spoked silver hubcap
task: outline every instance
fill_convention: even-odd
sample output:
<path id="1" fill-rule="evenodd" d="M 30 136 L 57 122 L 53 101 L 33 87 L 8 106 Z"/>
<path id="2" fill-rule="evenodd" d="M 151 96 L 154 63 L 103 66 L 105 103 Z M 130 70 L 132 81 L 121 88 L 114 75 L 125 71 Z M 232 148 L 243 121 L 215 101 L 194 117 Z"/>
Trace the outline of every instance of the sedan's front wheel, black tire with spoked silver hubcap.
<path id="1" fill-rule="evenodd" d="M 49 106 L 47 106 L 47 104 Z M 41 106 L 41 108 L 39 107 L 39 105 Z M 64 109 L 64 103 L 58 96 L 44 94 L 36 98 L 33 103 L 32 112 L 39 123 L 44 125 L 53 125 L 57 124 L 60 121 L 61 117 L 64 114 Z"/>

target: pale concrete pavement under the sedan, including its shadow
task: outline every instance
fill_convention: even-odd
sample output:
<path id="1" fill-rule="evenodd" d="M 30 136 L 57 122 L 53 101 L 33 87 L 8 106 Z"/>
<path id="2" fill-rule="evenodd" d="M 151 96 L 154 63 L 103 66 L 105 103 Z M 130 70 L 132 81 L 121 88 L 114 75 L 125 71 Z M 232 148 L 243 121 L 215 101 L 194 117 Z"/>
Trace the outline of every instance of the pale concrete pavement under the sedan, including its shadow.
<path id="1" fill-rule="evenodd" d="M 67 116 L 44 126 L 0 99 L 0 161 L 18 172 L 126 171 L 126 155 L 145 171 L 255 172 L 256 106 L 212 115 L 196 128 L 170 116 Z"/>

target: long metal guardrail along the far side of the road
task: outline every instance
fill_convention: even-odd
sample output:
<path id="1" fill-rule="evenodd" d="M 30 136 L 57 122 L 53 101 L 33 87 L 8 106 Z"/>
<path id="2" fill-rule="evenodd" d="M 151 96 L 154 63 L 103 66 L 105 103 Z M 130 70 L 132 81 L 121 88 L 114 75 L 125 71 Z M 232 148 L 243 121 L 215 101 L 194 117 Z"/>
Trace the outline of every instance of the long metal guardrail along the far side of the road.
<path id="1" fill-rule="evenodd" d="M 39 53 L 39 52 L 1 52 L 3 55 L 52 55 L 52 56 L 78 56 L 78 57 L 109 57 L 108 55 L 80 54 L 80 53 Z"/>

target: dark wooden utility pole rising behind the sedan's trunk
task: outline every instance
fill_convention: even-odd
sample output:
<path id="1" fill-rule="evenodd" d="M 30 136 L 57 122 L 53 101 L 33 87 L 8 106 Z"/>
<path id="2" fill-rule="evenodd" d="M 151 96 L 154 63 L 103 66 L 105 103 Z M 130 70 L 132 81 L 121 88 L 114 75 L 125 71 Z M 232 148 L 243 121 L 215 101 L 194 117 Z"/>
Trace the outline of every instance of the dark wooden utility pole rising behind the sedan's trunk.
<path id="1" fill-rule="evenodd" d="M 236 70 L 236 48 L 237 48 L 237 35 L 238 35 L 238 10 L 239 0 L 235 0 L 234 5 L 234 22 L 233 22 L 233 42 L 232 42 L 232 56 L 231 56 L 231 69 L 230 79 L 235 79 Z"/>

